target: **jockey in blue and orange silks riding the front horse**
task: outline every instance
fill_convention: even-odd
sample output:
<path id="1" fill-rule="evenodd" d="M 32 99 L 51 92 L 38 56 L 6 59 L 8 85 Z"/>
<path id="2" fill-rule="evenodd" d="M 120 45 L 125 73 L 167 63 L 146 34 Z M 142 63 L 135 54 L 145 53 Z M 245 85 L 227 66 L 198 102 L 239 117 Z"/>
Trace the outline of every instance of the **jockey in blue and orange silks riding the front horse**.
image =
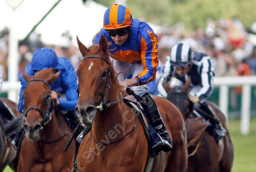
<path id="1" fill-rule="evenodd" d="M 101 35 L 108 40 L 109 52 L 118 75 L 119 88 L 122 93 L 131 87 L 135 94 L 147 98 L 153 105 L 141 103 L 151 125 L 158 133 L 159 140 L 151 150 L 172 149 L 165 124 L 155 101 L 148 93 L 148 83 L 155 79 L 158 66 L 157 36 L 153 29 L 143 21 L 133 19 L 131 12 L 123 5 L 115 4 L 105 11 L 103 28 L 96 33 L 93 44 L 98 44 Z M 126 79 L 129 75 L 131 79 Z"/>

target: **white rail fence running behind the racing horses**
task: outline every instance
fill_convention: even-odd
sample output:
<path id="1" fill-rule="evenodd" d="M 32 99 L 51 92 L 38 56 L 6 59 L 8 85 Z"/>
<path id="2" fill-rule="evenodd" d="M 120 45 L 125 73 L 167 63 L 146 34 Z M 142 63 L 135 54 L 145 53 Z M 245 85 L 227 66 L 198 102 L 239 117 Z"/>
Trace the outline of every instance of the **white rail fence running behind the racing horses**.
<path id="1" fill-rule="evenodd" d="M 248 134 L 251 116 L 251 87 L 256 85 L 256 76 L 223 76 L 214 78 L 215 87 L 219 87 L 219 107 L 228 118 L 229 87 L 242 86 L 241 125 L 242 134 Z M 2 92 L 8 93 L 8 99 L 18 103 L 20 82 L 3 82 Z"/>

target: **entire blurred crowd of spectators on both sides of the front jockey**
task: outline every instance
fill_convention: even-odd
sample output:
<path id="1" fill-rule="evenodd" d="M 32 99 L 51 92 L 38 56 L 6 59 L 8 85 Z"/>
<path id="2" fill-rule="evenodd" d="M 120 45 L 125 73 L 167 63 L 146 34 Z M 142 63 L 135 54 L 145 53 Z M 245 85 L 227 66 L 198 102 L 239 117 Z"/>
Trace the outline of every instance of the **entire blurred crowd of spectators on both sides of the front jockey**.
<path id="1" fill-rule="evenodd" d="M 225 22 L 227 26 L 223 25 Z M 215 27 L 217 25 L 218 27 Z M 215 35 L 209 34 L 210 32 Z M 0 32 L 0 65 L 4 71 L 4 80 L 8 80 L 8 35 L 8 28 Z M 180 22 L 173 26 L 162 26 L 157 36 L 160 68 L 166 56 L 169 56 L 172 46 L 183 42 L 212 58 L 215 76 L 256 74 L 256 22 L 245 29 L 239 19 L 220 19 L 219 21 L 208 19 L 205 29 L 195 27 L 192 32 L 187 31 L 184 24 Z M 45 45 L 41 41 L 41 35 L 33 32 L 29 39 L 20 41 L 18 78 L 22 74 L 22 69 L 25 69 L 32 58 L 33 52 L 42 47 L 54 49 L 58 56 L 68 58 L 76 70 L 81 55 L 79 49 L 72 45 L 72 39 L 69 31 L 66 31 L 62 34 L 61 44 Z"/>

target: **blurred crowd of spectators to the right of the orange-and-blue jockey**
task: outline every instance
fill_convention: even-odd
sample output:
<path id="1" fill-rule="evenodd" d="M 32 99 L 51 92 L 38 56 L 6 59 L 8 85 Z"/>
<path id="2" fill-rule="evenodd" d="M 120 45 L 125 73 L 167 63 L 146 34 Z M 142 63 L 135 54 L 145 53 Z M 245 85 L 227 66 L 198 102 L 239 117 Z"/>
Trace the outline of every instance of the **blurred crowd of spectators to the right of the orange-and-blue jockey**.
<path id="1" fill-rule="evenodd" d="M 172 46 L 183 42 L 212 58 L 215 76 L 256 74 L 256 22 L 245 29 L 239 19 L 208 19 L 205 29 L 194 28 L 193 32 L 187 32 L 183 23 L 178 23 L 162 29 L 158 39 L 162 63 Z"/>

